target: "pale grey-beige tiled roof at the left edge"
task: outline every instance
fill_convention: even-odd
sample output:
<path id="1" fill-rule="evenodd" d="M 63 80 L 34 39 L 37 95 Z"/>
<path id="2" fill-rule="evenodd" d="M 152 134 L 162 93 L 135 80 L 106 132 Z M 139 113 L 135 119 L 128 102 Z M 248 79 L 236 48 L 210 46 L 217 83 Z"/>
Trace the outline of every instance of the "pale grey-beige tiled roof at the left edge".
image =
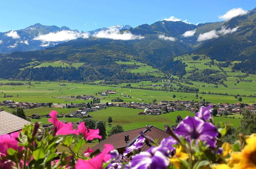
<path id="1" fill-rule="evenodd" d="M 28 120 L 0 110 L 0 135 L 22 130 L 24 125 L 29 123 Z"/>

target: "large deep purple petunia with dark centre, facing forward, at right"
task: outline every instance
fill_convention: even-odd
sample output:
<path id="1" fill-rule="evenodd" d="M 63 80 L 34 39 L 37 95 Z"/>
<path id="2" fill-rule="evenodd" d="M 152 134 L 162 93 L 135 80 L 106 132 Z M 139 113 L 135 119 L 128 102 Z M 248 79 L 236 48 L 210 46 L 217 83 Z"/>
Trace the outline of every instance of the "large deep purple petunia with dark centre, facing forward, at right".
<path id="1" fill-rule="evenodd" d="M 216 139 L 218 136 L 216 126 L 209 122 L 205 122 L 198 117 L 186 117 L 178 126 L 175 131 L 178 135 L 182 135 L 186 140 L 200 140 L 206 141 L 210 147 L 215 147 Z"/>

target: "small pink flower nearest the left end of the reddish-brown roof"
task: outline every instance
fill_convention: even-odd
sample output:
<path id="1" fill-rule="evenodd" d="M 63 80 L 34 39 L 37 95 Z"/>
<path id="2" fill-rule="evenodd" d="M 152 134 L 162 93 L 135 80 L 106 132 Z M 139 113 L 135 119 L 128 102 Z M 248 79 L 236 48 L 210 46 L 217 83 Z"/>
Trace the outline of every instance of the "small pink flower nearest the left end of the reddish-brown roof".
<path id="1" fill-rule="evenodd" d="M 85 140 L 93 140 L 95 138 L 99 138 L 101 139 L 102 137 L 99 135 L 99 129 L 93 130 L 93 129 L 87 129 L 86 125 L 84 124 L 84 122 L 81 122 L 78 125 L 78 129 L 76 134 L 78 135 L 79 133 L 81 133 L 83 135 L 83 138 Z"/>

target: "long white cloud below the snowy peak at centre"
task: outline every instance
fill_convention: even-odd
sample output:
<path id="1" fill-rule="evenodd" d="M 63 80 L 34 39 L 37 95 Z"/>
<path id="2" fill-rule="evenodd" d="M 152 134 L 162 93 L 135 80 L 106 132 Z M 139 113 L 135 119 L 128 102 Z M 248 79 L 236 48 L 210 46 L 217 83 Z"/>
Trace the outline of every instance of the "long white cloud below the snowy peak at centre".
<path id="1" fill-rule="evenodd" d="M 133 39 L 144 38 L 144 36 L 133 35 L 131 32 L 120 33 L 120 30 L 117 28 L 110 28 L 108 30 L 102 30 L 102 31 L 94 33 L 92 36 L 98 37 L 98 38 L 114 39 L 114 40 L 133 40 Z"/>

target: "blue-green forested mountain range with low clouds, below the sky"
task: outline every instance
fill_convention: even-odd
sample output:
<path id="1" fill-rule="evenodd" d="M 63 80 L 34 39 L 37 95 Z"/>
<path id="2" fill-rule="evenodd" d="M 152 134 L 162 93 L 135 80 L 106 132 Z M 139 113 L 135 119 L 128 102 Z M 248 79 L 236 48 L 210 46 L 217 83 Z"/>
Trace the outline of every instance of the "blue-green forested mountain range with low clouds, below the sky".
<path id="1" fill-rule="evenodd" d="M 131 60 L 154 67 L 166 75 L 183 76 L 186 65 L 175 58 L 184 54 L 205 55 L 212 60 L 227 62 L 228 66 L 237 61 L 232 69 L 255 74 L 255 39 L 256 8 L 230 20 L 198 25 L 161 20 L 135 28 L 117 25 L 79 32 L 68 27 L 35 24 L 22 30 L 0 33 L 3 67 L 6 67 L 4 58 L 13 58 L 15 64 L 18 63 L 15 73 L 7 72 L 9 75 L 2 78 L 33 79 L 37 69 L 56 69 L 59 74 L 67 72 L 66 69 L 72 69 L 71 72 L 79 70 L 80 77 L 73 78 L 78 81 L 120 79 L 120 72 L 128 79 L 150 78 L 127 73 L 127 69 L 136 66 L 117 64 L 118 61 Z M 47 68 L 38 67 L 33 62 L 59 60 L 71 65 L 79 63 L 80 66 Z M 58 80 L 72 80 L 72 77 L 61 77 Z M 45 77 L 44 80 L 52 79 Z"/>

